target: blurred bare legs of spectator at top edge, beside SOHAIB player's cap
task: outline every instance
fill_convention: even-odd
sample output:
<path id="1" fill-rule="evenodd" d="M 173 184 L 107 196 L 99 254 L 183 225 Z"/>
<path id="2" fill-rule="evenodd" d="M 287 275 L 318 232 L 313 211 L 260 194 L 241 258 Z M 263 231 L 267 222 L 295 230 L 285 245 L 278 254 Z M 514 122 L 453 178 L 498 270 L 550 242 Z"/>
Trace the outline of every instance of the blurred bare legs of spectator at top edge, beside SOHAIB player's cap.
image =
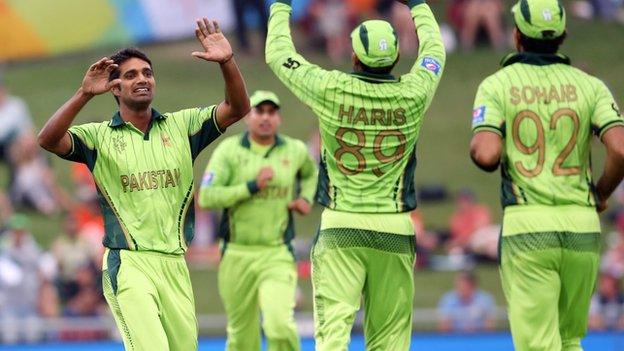
<path id="1" fill-rule="evenodd" d="M 501 0 L 453 0 L 448 16 L 458 33 L 464 50 L 472 50 L 483 30 L 496 50 L 505 48 L 503 27 L 503 2 Z"/>

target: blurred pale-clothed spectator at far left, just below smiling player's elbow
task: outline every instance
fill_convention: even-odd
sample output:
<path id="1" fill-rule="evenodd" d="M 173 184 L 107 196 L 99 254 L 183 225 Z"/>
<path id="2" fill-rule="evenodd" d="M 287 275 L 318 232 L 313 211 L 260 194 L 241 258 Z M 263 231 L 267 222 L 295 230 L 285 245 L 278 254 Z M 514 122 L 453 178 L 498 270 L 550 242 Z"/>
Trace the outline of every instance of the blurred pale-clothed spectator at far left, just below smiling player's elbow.
<path id="1" fill-rule="evenodd" d="M 68 208 L 68 198 L 56 184 L 54 172 L 30 132 L 17 137 L 9 149 L 12 181 L 9 196 L 14 206 L 30 207 L 51 215 Z"/>

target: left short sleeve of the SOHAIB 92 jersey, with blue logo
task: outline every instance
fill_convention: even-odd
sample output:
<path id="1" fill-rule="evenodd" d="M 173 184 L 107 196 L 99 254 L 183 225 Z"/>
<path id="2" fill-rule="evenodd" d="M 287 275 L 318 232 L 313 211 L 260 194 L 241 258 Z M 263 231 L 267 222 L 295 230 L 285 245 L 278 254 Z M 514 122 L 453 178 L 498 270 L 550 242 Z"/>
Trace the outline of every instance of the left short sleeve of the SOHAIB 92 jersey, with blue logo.
<path id="1" fill-rule="evenodd" d="M 504 123 L 505 116 L 500 99 L 489 80 L 486 79 L 479 85 L 475 97 L 472 110 L 472 131 L 474 133 L 490 131 L 504 137 Z"/>

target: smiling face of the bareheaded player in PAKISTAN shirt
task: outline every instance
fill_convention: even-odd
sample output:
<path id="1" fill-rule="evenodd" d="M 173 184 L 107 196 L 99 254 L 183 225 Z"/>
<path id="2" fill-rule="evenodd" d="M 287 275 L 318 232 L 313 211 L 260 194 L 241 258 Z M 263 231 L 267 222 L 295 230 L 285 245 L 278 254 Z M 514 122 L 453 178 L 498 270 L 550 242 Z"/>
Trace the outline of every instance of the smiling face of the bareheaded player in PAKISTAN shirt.
<path id="1" fill-rule="evenodd" d="M 119 103 L 132 109 L 148 107 L 154 100 L 156 81 L 149 63 L 131 58 L 119 66 L 121 83 L 113 88 Z"/>

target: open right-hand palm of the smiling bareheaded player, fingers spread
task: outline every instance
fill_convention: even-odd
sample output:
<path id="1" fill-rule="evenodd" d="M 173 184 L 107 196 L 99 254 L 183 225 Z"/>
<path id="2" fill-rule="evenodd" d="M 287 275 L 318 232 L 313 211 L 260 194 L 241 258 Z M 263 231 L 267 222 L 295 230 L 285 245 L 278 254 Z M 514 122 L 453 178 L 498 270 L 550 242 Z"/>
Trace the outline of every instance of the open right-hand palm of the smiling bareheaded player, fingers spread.
<path id="1" fill-rule="evenodd" d="M 195 36 L 203 46 L 204 51 L 195 51 L 191 55 L 218 63 L 226 63 L 234 56 L 230 42 L 221 33 L 217 21 L 209 21 L 205 17 L 197 20 Z"/>

